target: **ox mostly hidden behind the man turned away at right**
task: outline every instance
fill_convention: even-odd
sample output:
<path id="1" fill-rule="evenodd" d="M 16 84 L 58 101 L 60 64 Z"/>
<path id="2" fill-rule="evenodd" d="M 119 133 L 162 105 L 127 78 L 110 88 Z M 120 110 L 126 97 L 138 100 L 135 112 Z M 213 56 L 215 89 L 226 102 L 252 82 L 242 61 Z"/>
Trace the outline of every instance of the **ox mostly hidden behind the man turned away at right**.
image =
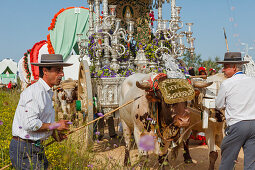
<path id="1" fill-rule="evenodd" d="M 210 76 L 207 78 L 207 81 L 213 82 L 214 86 L 217 87 L 217 89 L 219 89 L 220 84 L 222 83 L 222 81 L 224 81 L 226 78 L 224 77 L 223 73 L 218 73 L 216 75 Z M 212 85 L 212 86 L 213 86 Z M 201 98 L 204 97 L 205 92 L 203 91 L 203 89 L 195 89 L 196 92 L 196 96 L 199 96 L 196 98 L 196 100 L 200 101 L 195 101 L 195 104 L 191 107 L 188 107 L 189 111 L 190 111 L 190 124 L 195 124 L 196 122 L 198 122 L 199 120 L 201 120 L 201 110 L 199 110 L 198 108 L 203 108 L 202 106 L 202 101 Z M 199 92 L 198 92 L 199 91 Z M 217 95 L 217 94 L 215 94 Z M 215 96 L 216 97 L 216 96 Z M 224 129 L 225 129 L 225 122 L 224 122 L 224 117 L 223 114 L 216 111 L 215 109 L 210 109 L 211 112 L 211 118 L 209 118 L 209 122 L 208 122 L 208 128 L 207 129 L 203 129 L 202 128 L 202 122 L 200 122 L 199 124 L 196 124 L 195 126 L 193 126 L 192 132 L 194 135 L 196 135 L 197 132 L 205 132 L 205 136 L 206 136 L 206 142 L 208 145 L 208 149 L 209 149 L 209 170 L 213 170 L 214 169 L 214 165 L 215 162 L 218 158 L 218 153 L 217 153 L 217 148 L 216 146 L 220 147 L 222 139 L 224 137 Z M 184 141 L 184 157 L 190 158 L 191 157 L 189 155 L 189 149 L 188 149 L 188 139 L 186 141 Z"/>

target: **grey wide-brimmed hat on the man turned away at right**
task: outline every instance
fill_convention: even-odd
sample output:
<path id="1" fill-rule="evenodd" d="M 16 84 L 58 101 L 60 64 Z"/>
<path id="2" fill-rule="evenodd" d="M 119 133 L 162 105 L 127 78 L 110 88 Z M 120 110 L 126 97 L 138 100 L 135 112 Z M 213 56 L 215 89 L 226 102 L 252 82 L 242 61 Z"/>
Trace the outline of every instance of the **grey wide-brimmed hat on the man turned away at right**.
<path id="1" fill-rule="evenodd" d="M 246 64 L 249 61 L 243 61 L 240 52 L 225 53 L 223 61 L 217 61 L 218 64 Z"/>

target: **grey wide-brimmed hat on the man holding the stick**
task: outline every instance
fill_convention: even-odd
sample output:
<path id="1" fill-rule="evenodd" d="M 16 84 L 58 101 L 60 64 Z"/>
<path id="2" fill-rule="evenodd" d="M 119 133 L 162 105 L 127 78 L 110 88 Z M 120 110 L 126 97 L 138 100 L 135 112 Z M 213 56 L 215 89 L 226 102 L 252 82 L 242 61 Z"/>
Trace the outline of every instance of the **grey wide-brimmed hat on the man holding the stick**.
<path id="1" fill-rule="evenodd" d="M 42 54 L 40 63 L 31 63 L 34 66 L 44 67 L 67 67 L 73 64 L 64 63 L 63 56 L 61 54 Z"/>

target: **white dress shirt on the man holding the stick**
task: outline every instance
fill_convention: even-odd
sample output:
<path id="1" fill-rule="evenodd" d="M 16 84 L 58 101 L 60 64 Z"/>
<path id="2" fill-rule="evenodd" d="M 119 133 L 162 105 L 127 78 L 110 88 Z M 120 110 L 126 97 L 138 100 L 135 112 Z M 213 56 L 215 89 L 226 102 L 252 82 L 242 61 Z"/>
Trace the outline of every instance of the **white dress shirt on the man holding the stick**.
<path id="1" fill-rule="evenodd" d="M 34 141 L 48 138 L 52 131 L 36 131 L 43 123 L 53 123 L 55 120 L 52 96 L 50 86 L 41 78 L 26 88 L 20 95 L 14 115 L 12 135 Z"/>

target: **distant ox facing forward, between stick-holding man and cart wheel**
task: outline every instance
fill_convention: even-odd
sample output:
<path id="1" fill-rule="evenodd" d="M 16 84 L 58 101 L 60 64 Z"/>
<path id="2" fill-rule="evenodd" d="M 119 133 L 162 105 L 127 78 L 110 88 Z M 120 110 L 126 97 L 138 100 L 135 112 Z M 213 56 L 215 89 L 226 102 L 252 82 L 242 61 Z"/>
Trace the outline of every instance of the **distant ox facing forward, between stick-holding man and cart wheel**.
<path id="1" fill-rule="evenodd" d="M 77 81 L 72 79 L 64 80 L 56 87 L 56 103 L 61 106 L 64 117 L 75 119 L 76 109 L 75 100 L 77 100 Z"/>

